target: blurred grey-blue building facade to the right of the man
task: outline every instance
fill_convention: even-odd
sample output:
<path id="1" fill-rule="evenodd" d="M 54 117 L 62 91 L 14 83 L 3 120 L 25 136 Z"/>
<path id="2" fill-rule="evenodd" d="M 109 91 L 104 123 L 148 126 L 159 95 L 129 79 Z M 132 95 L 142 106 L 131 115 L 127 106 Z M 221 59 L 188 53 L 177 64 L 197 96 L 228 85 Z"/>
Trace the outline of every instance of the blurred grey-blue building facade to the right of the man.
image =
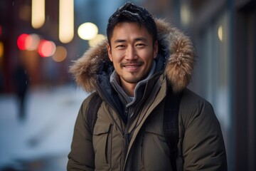
<path id="1" fill-rule="evenodd" d="M 256 1 L 145 0 L 144 6 L 195 42 L 190 87 L 213 104 L 228 170 L 256 170 Z"/>

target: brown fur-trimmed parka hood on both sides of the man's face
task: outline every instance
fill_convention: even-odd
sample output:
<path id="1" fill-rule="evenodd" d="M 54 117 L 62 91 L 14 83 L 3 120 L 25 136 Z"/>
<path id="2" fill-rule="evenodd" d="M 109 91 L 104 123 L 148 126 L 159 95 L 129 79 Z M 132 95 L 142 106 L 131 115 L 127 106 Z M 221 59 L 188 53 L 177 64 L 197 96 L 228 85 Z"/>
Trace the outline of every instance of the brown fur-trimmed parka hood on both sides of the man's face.
<path id="1" fill-rule="evenodd" d="M 165 66 L 162 68 L 166 78 L 171 83 L 174 92 L 183 90 L 191 81 L 191 74 L 195 63 L 195 51 L 193 44 L 181 31 L 172 27 L 166 21 L 155 19 L 158 30 L 159 56 Z M 102 63 L 112 63 L 107 54 L 107 40 L 102 41 L 85 52 L 74 61 L 70 67 L 78 86 L 82 86 L 87 92 L 96 90 L 97 74 L 102 68 Z"/>

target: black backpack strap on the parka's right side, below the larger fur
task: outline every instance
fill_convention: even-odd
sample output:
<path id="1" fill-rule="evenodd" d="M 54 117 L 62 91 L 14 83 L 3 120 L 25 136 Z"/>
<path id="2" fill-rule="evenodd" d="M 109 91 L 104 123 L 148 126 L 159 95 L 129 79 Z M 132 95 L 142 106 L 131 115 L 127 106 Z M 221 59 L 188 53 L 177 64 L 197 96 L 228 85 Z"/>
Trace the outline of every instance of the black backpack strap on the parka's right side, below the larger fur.
<path id="1" fill-rule="evenodd" d="M 176 168 L 176 157 L 178 155 L 178 109 L 181 101 L 181 93 L 174 94 L 169 90 L 166 94 L 166 101 L 164 105 L 164 137 L 166 143 L 170 148 L 171 167 L 174 171 Z"/>

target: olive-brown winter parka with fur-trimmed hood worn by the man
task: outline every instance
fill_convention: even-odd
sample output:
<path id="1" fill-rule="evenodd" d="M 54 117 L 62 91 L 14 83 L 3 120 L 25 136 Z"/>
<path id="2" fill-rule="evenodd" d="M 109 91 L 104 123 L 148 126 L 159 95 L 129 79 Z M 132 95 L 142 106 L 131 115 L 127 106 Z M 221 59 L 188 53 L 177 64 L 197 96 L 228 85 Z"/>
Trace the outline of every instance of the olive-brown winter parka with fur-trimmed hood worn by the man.
<path id="1" fill-rule="evenodd" d="M 141 86 L 137 103 L 122 103 L 110 84 L 114 71 L 107 41 L 90 48 L 70 68 L 76 83 L 90 95 L 75 122 L 68 170 L 172 170 L 164 138 L 166 93 L 183 92 L 178 113 L 177 170 L 227 170 L 220 123 L 210 103 L 186 86 L 191 81 L 195 52 L 190 39 L 163 20 L 155 19 L 159 54 L 154 75 Z M 87 105 L 95 94 L 102 104 L 93 133 Z M 132 118 L 124 120 L 125 112 Z"/>

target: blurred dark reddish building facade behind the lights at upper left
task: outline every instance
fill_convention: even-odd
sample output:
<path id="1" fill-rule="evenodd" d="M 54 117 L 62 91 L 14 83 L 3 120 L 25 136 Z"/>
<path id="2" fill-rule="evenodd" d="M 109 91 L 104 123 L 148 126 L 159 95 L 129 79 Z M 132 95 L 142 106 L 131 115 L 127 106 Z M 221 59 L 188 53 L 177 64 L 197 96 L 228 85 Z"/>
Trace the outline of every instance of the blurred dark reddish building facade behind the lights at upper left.
<path id="1" fill-rule="evenodd" d="M 72 46 L 58 41 L 58 1 L 46 1 L 46 22 L 38 29 L 31 26 L 31 1 L 0 1 L 0 11 L 0 41 L 3 44 L 0 69 L 4 76 L 2 91 L 4 93 L 13 91 L 12 73 L 19 64 L 26 68 L 31 85 L 67 81 L 65 72 L 69 58 L 57 63 L 53 58 L 42 58 L 37 50 L 21 51 L 17 46 L 18 36 L 23 33 L 33 33 L 41 39 L 53 41 L 56 46 L 61 44 L 72 51 Z"/>

